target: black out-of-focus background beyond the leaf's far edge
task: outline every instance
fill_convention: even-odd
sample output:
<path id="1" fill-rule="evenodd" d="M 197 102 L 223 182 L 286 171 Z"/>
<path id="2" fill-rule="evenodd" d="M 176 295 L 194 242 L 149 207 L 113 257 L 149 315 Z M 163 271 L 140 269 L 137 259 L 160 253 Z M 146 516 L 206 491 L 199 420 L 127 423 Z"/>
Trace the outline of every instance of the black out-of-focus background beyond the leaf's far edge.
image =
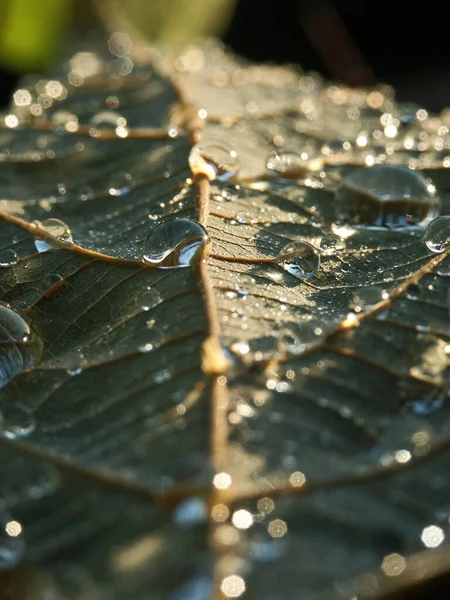
<path id="1" fill-rule="evenodd" d="M 239 0 L 224 40 L 256 61 L 298 63 L 348 85 L 387 82 L 400 100 L 450 106 L 447 0 Z M 1 104 L 17 78 L 0 71 Z"/>

